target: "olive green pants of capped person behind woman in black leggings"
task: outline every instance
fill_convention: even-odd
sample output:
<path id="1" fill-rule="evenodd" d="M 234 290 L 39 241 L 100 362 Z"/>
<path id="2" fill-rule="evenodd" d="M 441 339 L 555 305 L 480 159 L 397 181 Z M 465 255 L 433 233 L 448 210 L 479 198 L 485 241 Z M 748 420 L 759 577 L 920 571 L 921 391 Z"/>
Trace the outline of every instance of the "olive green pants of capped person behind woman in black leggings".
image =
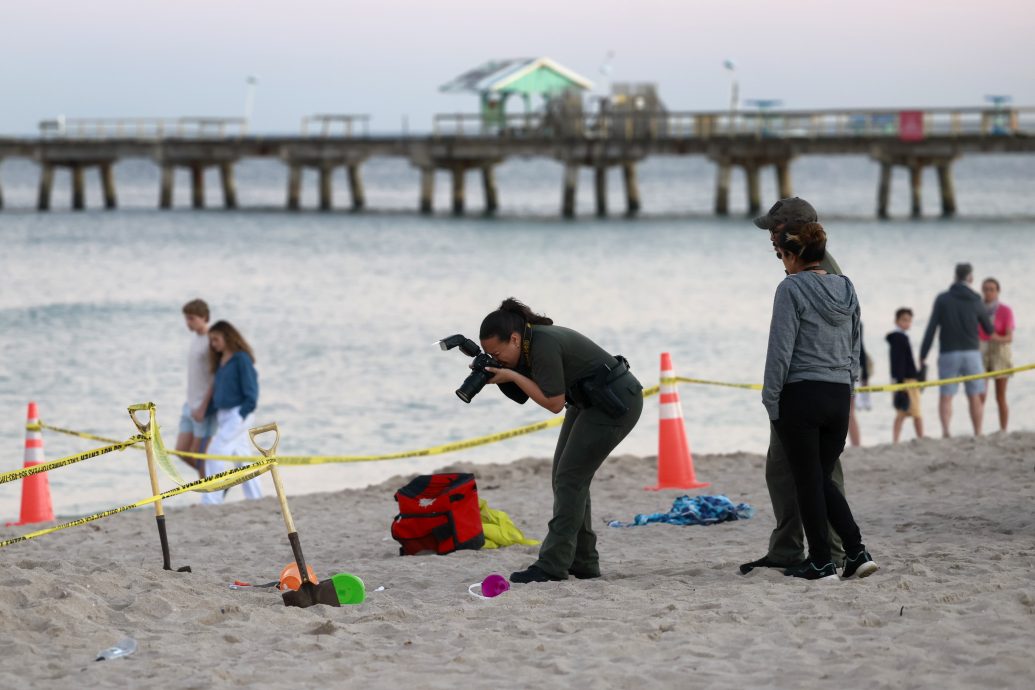
<path id="1" fill-rule="evenodd" d="M 845 472 L 840 458 L 834 463 L 832 479 L 845 496 Z M 776 528 L 769 537 L 768 558 L 788 565 L 801 563 L 805 560 L 805 532 L 798 512 L 798 491 L 783 444 L 772 425 L 769 429 L 769 452 L 766 454 L 766 486 L 769 487 L 769 499 L 776 517 Z M 830 557 L 837 567 L 845 563 L 845 547 L 833 527 L 830 527 Z"/>

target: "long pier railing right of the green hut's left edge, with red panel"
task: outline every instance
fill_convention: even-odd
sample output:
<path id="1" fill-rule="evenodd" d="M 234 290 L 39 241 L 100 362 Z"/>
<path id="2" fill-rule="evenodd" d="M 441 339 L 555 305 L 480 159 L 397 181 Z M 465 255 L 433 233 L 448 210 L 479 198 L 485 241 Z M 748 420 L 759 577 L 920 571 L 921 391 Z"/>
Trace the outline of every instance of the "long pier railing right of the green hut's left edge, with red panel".
<path id="1" fill-rule="evenodd" d="M 435 137 L 592 139 L 758 139 L 1035 136 L 1035 109 L 945 108 L 868 111 L 603 112 L 580 116 L 551 113 L 484 118 L 477 114 L 435 116 Z"/>

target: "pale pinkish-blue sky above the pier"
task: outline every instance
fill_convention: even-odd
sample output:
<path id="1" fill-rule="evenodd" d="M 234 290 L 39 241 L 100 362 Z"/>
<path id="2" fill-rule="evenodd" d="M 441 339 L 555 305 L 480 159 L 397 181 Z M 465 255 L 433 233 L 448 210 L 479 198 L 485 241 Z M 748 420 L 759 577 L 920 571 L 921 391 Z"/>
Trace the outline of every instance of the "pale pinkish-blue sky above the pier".
<path id="1" fill-rule="evenodd" d="M 492 58 L 551 57 L 605 88 L 652 82 L 669 110 L 740 95 L 787 109 L 1035 107 L 1031 0 L 0 0 L 0 136 L 71 117 L 240 116 L 297 132 L 315 113 L 376 131 L 473 113 L 441 85 Z"/>

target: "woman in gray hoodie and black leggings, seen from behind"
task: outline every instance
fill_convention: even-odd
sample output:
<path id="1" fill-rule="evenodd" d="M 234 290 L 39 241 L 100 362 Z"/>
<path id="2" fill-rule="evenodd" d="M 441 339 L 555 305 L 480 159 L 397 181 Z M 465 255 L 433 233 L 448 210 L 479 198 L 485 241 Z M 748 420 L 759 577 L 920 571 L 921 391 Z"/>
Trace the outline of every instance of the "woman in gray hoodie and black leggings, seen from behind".
<path id="1" fill-rule="evenodd" d="M 762 402 L 787 450 L 808 540 L 808 560 L 785 574 L 805 579 L 837 579 L 828 519 L 845 544 L 841 577 L 865 577 L 877 570 L 848 501 L 830 479 L 848 436 L 860 330 L 852 281 L 820 268 L 826 246 L 826 232 L 818 222 L 791 228 L 776 238 L 788 276 L 773 302 L 762 390 Z"/>

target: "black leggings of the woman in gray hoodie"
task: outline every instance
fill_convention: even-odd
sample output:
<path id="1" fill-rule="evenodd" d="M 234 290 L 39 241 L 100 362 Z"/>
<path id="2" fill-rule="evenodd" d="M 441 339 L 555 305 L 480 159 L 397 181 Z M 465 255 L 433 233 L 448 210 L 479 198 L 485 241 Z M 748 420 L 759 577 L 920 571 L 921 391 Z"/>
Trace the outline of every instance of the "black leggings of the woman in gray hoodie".
<path id="1" fill-rule="evenodd" d="M 819 565 L 830 561 L 828 519 L 846 553 L 854 556 L 862 548 L 852 509 L 830 479 L 834 462 L 845 450 L 851 400 L 848 384 L 822 381 L 787 384 L 779 396 L 776 433 L 794 475 L 808 557 Z"/>

